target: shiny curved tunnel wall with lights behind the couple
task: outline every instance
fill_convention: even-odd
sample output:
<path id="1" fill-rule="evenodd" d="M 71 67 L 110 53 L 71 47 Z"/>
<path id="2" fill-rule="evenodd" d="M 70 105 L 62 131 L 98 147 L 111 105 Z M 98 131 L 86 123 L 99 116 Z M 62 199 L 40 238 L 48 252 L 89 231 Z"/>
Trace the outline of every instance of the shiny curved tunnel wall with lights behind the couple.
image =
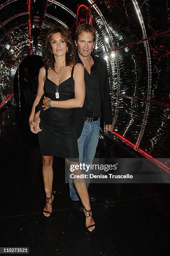
<path id="1" fill-rule="evenodd" d="M 2 2 L 0 104 L 13 94 L 19 63 L 30 54 L 41 55 L 43 35 L 55 21 L 74 33 L 77 4 L 82 3 L 90 7 L 96 28 L 94 54 L 108 64 L 112 133 L 145 156 L 169 156 L 170 6 L 166 0 L 86 0 L 71 4 L 44 0 L 38 7 L 27 0 Z M 40 22 L 33 25 L 36 13 Z M 84 16 L 84 10 L 81 14 Z"/>

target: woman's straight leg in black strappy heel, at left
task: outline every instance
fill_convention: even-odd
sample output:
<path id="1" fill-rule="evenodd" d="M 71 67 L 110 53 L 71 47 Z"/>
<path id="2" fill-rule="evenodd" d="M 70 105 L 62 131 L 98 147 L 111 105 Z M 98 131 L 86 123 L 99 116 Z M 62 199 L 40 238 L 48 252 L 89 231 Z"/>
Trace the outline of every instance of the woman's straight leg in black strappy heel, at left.
<path id="1" fill-rule="evenodd" d="M 46 197 L 51 197 L 52 187 L 53 187 L 53 156 L 42 156 L 43 157 L 43 180 L 44 180 L 44 189 L 46 192 Z M 53 202 L 53 195 L 49 200 L 49 203 Z M 47 200 L 46 200 L 47 202 Z M 52 205 L 46 203 L 44 211 L 52 212 Z M 49 217 L 50 214 L 43 212 L 46 217 Z"/>

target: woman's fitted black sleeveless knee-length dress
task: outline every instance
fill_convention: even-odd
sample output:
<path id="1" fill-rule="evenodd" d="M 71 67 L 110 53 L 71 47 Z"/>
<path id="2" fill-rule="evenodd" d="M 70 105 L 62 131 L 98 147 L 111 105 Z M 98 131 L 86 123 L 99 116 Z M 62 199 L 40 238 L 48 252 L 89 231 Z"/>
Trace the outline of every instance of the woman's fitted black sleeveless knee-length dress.
<path id="1" fill-rule="evenodd" d="M 51 100 L 73 99 L 73 71 L 74 67 L 71 71 L 71 77 L 59 85 L 58 92 L 60 97 L 56 99 L 56 84 L 48 79 L 46 70 L 44 83 L 46 96 Z M 40 128 L 43 131 L 38 133 L 41 155 L 79 159 L 74 112 L 74 108 L 48 108 L 44 111 L 41 110 Z"/>

